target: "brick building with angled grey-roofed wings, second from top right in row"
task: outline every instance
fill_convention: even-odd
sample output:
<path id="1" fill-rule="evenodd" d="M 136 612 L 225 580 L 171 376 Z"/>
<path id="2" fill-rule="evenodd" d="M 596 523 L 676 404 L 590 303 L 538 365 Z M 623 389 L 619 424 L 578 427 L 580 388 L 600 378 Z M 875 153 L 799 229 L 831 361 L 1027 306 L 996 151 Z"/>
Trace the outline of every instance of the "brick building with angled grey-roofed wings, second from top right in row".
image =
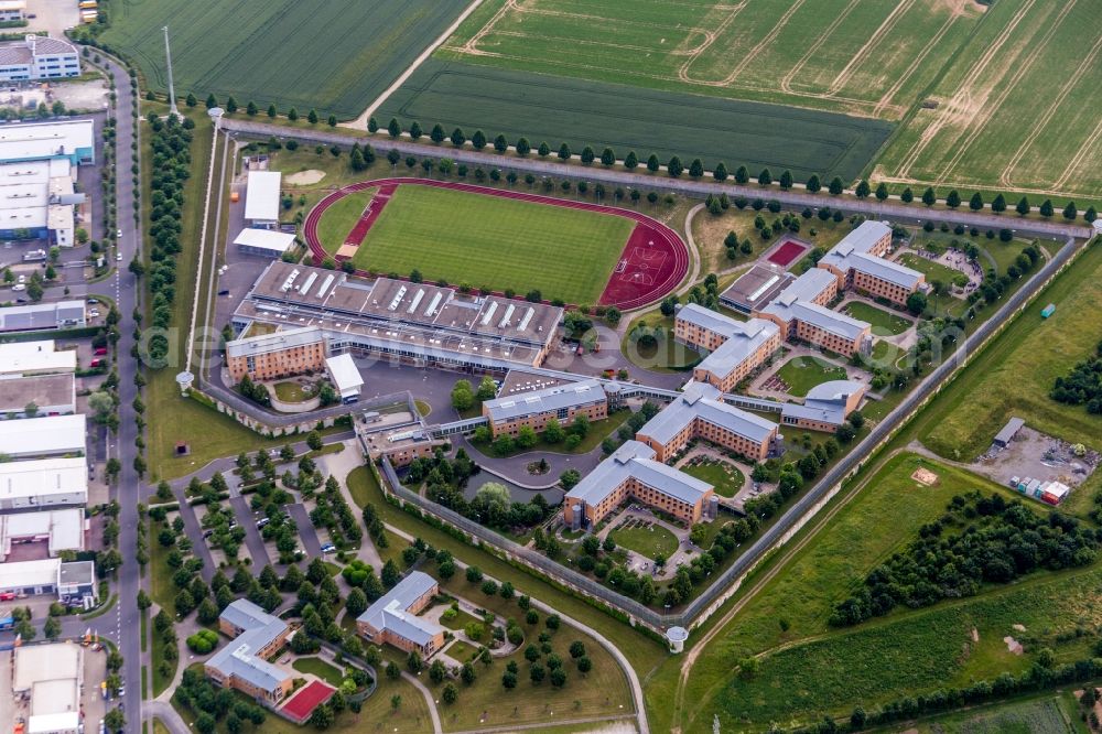
<path id="1" fill-rule="evenodd" d="M 869 324 L 827 307 L 838 292 L 833 274 L 808 270 L 755 315 L 775 323 L 785 339 L 844 356 L 867 352 L 872 347 Z"/>

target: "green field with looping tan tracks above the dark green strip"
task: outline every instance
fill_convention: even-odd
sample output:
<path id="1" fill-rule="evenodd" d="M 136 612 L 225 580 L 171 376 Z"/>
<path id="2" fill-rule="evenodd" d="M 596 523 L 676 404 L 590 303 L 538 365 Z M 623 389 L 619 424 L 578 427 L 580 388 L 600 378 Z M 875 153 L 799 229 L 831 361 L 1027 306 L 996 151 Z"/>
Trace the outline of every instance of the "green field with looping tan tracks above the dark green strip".
<path id="1" fill-rule="evenodd" d="M 485 2 L 440 58 L 899 119 L 982 17 L 972 2 Z"/>

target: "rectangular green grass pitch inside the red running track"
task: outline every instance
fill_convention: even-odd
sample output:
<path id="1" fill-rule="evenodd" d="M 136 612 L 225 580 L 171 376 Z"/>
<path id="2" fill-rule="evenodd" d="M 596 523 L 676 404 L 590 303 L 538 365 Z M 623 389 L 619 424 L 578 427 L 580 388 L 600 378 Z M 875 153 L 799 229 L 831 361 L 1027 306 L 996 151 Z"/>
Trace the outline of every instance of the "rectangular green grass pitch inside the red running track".
<path id="1" fill-rule="evenodd" d="M 358 216 L 338 228 L 347 234 Z M 431 281 L 594 303 L 633 227 L 607 214 L 402 185 L 353 261 L 381 273 L 420 270 Z"/>

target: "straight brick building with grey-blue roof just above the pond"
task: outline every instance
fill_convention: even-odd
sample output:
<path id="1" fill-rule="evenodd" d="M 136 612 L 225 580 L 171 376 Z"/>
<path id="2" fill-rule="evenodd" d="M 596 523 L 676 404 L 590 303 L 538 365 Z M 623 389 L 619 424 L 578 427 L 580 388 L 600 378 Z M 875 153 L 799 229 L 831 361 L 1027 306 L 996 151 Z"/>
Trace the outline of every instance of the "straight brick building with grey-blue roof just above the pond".
<path id="1" fill-rule="evenodd" d="M 568 385 L 532 390 L 483 402 L 483 415 L 496 439 L 516 436 L 521 427 L 541 433 L 552 418 L 560 425 L 570 425 L 579 415 L 590 421 L 608 417 L 608 398 L 597 380 L 582 380 Z"/>

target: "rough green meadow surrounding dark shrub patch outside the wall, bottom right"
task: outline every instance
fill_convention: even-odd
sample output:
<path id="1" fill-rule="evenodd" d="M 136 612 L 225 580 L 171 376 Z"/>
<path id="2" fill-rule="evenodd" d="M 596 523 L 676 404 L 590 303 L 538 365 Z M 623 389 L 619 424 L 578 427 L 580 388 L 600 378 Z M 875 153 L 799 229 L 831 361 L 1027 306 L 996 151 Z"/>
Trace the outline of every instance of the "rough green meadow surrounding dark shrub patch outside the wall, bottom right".
<path id="1" fill-rule="evenodd" d="M 911 475 L 919 467 L 938 481 L 926 486 Z M 874 623 L 835 630 L 827 624 L 833 605 L 860 586 L 865 573 L 917 537 L 957 494 L 1006 489 L 962 469 L 903 453 L 867 477 L 857 494 L 764 590 L 721 636 L 701 649 L 688 681 L 683 719 L 662 714 L 678 665 L 665 665 L 648 688 L 651 726 L 680 724 L 696 731 L 719 714 L 724 731 L 764 730 L 849 714 L 903 695 L 943 686 L 1020 672 L 1031 651 L 1051 647 L 1058 659 L 1087 655 L 1088 635 L 1058 643 L 1060 633 L 1102 622 L 1091 601 L 1102 590 L 1096 565 L 1062 574 L 1037 574 L 1008 587 L 920 612 L 897 611 Z M 1057 600 L 1057 601 L 1054 601 Z M 1026 633 L 1012 629 L 1024 625 Z M 979 641 L 972 639 L 975 628 Z M 1008 652 L 1003 637 L 1017 635 L 1026 655 Z M 970 643 L 970 640 L 972 640 Z M 1088 645 L 1089 646 L 1089 645 Z M 966 650 L 966 655 L 962 655 Z M 733 661 L 760 656 L 758 672 L 739 678 Z"/>

